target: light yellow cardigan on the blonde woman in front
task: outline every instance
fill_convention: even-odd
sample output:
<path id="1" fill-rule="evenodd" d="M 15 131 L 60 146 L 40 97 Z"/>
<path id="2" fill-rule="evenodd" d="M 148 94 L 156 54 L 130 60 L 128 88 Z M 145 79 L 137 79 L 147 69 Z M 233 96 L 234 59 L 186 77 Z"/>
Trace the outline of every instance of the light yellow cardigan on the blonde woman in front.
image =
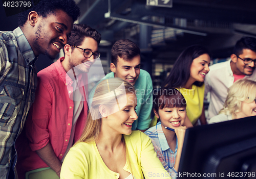
<path id="1" fill-rule="evenodd" d="M 140 131 L 124 135 L 128 150 L 132 174 L 136 179 L 171 178 L 157 158 L 151 139 Z M 131 173 L 126 160 L 123 168 Z M 144 176 L 143 176 L 144 175 Z M 84 178 L 95 179 L 119 178 L 119 173 L 111 171 L 103 162 L 95 141 L 79 142 L 68 152 L 60 172 L 61 179 Z"/>

